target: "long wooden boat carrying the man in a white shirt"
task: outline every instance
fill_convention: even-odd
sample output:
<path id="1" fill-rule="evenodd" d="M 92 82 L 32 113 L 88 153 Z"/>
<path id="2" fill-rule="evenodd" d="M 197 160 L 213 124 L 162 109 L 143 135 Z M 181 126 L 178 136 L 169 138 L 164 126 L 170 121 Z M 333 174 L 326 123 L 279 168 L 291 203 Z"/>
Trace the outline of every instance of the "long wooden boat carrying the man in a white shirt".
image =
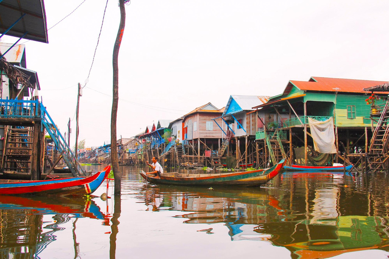
<path id="1" fill-rule="evenodd" d="M 286 160 L 282 159 L 270 168 L 221 174 L 182 174 L 179 172 L 167 172 L 162 174 L 161 177 L 150 177 L 142 170 L 140 175 L 152 184 L 260 186 L 276 177 L 284 167 L 285 162 Z"/>

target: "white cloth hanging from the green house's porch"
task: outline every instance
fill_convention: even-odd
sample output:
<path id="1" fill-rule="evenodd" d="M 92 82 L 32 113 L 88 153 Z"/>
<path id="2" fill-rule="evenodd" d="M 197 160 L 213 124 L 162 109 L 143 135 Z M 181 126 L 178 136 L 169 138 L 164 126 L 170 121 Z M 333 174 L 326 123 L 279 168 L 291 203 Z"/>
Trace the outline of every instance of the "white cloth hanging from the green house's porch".
<path id="1" fill-rule="evenodd" d="M 335 131 L 332 117 L 319 121 L 308 117 L 310 134 L 314 139 L 315 150 L 323 154 L 336 154 Z"/>

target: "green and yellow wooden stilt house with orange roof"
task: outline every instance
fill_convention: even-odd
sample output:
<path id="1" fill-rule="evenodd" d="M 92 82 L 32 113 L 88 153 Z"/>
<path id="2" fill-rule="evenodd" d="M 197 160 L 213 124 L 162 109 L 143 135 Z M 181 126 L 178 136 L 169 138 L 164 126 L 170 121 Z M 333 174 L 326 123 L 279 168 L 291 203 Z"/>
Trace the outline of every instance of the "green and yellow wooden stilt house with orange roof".
<path id="1" fill-rule="evenodd" d="M 310 161 L 319 165 L 329 162 L 331 155 L 318 154 L 313 148 L 308 118 L 318 121 L 332 119 L 338 153 L 335 160 L 344 159 L 344 154 L 365 152 L 368 139 L 372 136 L 372 123 L 371 107 L 366 104 L 368 96 L 364 88 L 382 83 L 384 82 L 326 77 L 289 81 L 281 95 L 253 107 L 266 112 L 264 131 L 257 132 L 256 137 L 257 141 L 268 148 L 264 162 L 277 161 L 282 157 L 289 157 L 290 163 L 300 161 L 307 164 Z M 382 95 L 380 102 L 385 98 Z M 294 154 L 297 148 L 302 150 L 302 153 L 298 152 L 302 154 L 299 157 Z M 318 160 L 320 157 L 320 161 L 310 159 L 312 157 Z"/>

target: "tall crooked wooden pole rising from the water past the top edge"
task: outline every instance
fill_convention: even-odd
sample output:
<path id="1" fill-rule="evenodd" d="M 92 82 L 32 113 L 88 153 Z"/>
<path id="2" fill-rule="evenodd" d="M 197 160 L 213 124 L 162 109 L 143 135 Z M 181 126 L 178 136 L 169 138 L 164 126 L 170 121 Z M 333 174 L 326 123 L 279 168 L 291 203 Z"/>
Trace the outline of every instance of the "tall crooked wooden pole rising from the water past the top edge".
<path id="1" fill-rule="evenodd" d="M 119 49 L 122 43 L 124 27 L 126 25 L 126 10 L 124 0 L 119 0 L 120 7 L 120 25 L 116 35 L 115 45 L 113 47 L 112 67 L 113 67 L 113 97 L 111 112 L 111 161 L 114 176 L 114 195 L 121 195 L 122 179 L 119 171 L 118 147 L 116 145 L 116 117 L 118 116 L 119 103 Z"/>

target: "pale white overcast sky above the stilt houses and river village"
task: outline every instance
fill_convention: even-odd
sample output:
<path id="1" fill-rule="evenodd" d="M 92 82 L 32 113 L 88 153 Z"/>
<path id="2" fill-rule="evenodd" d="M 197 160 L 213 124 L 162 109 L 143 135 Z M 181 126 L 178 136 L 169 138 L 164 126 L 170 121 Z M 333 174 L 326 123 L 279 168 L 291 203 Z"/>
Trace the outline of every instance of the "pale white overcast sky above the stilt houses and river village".
<path id="1" fill-rule="evenodd" d="M 20 41 L 43 104 L 62 134 L 70 118 L 75 143 L 81 83 L 79 141 L 108 144 L 118 0 L 45 1 L 45 9 L 49 44 Z M 387 17 L 389 1 L 381 0 L 131 0 L 119 53 L 118 139 L 208 102 L 222 108 L 230 95 L 282 94 L 289 80 L 389 81 Z"/>

